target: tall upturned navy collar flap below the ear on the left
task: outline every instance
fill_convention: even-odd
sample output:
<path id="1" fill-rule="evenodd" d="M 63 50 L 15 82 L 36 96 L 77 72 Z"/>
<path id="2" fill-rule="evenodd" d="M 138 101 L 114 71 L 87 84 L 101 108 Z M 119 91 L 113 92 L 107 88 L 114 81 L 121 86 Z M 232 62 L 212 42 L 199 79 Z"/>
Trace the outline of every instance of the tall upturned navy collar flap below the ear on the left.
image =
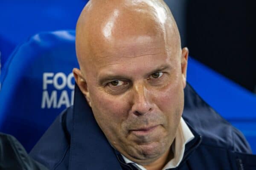
<path id="1" fill-rule="evenodd" d="M 122 169 L 77 85 L 74 95 L 69 161 L 70 170 Z"/>

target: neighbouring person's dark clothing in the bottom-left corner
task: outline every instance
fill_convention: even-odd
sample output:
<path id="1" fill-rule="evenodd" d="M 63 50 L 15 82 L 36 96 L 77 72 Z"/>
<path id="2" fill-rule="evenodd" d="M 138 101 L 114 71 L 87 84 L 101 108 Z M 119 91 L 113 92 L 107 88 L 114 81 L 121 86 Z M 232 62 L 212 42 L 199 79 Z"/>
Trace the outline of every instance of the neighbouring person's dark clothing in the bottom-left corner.
<path id="1" fill-rule="evenodd" d="M 13 136 L 0 133 L 0 170 L 47 170 L 31 159 Z"/>

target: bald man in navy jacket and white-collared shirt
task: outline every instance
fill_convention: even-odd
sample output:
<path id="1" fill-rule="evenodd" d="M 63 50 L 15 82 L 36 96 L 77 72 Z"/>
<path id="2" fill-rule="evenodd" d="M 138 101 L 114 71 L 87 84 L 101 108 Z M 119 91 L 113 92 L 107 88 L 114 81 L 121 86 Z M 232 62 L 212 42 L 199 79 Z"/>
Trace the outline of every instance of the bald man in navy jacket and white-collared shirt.
<path id="1" fill-rule="evenodd" d="M 34 159 L 50 170 L 243 167 L 251 157 L 238 152 L 250 146 L 186 87 L 188 49 L 180 44 L 162 0 L 90 0 L 76 26 L 74 105 Z"/>

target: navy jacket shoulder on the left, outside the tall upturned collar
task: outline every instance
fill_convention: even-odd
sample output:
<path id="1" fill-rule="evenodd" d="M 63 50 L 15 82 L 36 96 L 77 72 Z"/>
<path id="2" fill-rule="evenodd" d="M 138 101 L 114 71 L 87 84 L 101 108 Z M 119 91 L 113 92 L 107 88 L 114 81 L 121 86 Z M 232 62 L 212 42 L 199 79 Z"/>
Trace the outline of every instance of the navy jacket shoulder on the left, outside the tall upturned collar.
<path id="1" fill-rule="evenodd" d="M 49 169 L 55 169 L 57 166 L 67 169 L 72 117 L 73 107 L 71 106 L 57 116 L 29 155 Z"/>

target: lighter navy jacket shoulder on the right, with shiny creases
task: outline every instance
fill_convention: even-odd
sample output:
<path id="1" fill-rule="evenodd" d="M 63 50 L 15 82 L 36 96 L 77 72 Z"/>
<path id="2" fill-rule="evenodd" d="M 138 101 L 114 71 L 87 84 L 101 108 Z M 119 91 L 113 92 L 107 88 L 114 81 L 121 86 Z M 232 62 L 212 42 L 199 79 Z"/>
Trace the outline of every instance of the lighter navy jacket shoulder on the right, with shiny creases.
<path id="1" fill-rule="evenodd" d="M 185 90 L 183 119 L 202 136 L 201 144 L 251 153 L 244 135 L 212 109 L 191 86 Z"/>

